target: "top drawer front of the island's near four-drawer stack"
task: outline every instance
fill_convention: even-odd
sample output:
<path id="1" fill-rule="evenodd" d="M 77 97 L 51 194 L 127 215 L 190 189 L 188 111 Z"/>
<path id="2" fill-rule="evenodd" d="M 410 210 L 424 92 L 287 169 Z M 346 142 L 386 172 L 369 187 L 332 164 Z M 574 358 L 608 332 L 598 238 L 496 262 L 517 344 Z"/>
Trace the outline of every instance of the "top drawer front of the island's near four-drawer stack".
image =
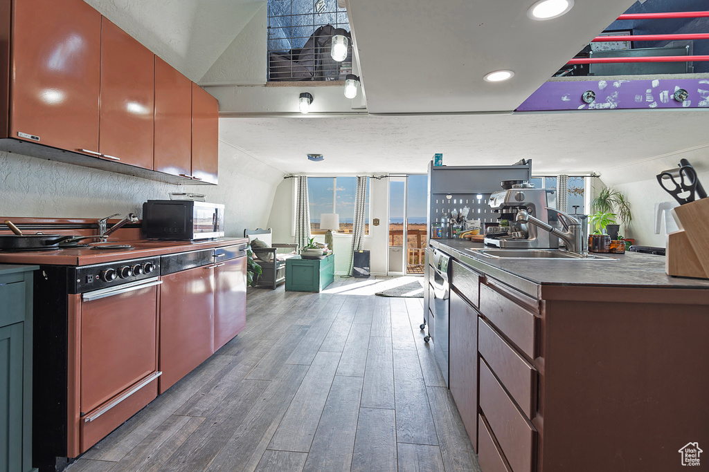
<path id="1" fill-rule="evenodd" d="M 535 315 L 485 284 L 480 286 L 480 313 L 522 352 L 535 358 Z"/>

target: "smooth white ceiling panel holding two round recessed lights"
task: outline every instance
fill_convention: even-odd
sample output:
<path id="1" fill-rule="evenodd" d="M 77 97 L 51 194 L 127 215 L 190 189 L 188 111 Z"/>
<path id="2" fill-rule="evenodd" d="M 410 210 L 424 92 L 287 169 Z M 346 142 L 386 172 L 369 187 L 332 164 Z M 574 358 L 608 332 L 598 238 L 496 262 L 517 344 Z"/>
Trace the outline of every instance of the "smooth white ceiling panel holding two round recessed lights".
<path id="1" fill-rule="evenodd" d="M 576 1 L 534 21 L 534 0 L 350 0 L 369 113 L 514 110 L 634 0 Z M 509 81 L 483 76 L 511 69 Z"/>

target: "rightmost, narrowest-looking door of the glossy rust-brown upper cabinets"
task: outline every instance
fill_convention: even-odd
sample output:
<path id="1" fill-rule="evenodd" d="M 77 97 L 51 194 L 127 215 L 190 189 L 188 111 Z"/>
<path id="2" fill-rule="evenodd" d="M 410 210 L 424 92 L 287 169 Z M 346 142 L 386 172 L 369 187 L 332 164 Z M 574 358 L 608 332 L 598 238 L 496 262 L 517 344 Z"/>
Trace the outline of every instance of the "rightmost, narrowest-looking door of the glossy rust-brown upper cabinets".
<path id="1" fill-rule="evenodd" d="M 192 84 L 192 173 L 196 180 L 217 183 L 219 102 Z"/>

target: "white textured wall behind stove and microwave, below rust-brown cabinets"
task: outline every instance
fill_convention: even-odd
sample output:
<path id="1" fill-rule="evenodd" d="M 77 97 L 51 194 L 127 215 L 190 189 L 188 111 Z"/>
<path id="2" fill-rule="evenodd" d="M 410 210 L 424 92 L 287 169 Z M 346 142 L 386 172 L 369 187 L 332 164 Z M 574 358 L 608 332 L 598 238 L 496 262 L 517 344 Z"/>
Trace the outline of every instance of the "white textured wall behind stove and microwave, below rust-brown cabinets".
<path id="1" fill-rule="evenodd" d="M 226 205 L 226 235 L 266 224 L 283 173 L 219 143 L 219 185 L 172 185 L 0 152 L 0 216 L 101 218 L 143 213 L 145 200 L 199 192 Z"/>

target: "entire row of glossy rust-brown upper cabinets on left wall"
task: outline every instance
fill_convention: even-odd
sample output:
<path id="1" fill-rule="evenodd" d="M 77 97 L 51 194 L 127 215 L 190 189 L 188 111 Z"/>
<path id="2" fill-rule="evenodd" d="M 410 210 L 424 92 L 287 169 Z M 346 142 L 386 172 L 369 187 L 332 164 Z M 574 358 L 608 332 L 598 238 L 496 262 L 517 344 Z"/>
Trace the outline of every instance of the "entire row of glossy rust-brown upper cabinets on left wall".
<path id="1" fill-rule="evenodd" d="M 84 1 L 0 1 L 0 67 L 0 149 L 217 183 L 218 101 Z"/>

